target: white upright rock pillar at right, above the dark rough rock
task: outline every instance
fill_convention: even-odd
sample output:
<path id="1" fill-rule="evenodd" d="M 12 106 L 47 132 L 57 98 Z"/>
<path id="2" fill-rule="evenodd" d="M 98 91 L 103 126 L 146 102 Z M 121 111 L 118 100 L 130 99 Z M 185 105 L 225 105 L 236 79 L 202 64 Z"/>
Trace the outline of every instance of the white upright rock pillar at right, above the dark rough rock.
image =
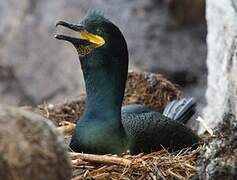
<path id="1" fill-rule="evenodd" d="M 208 0 L 206 6 L 209 74 L 204 119 L 213 128 L 225 112 L 237 115 L 237 1 Z"/>

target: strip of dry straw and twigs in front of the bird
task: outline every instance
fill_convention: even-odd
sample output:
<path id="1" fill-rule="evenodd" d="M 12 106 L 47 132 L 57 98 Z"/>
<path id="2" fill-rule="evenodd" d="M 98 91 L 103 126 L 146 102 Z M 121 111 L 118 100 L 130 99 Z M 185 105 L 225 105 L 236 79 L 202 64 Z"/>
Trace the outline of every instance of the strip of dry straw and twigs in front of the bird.
<path id="1" fill-rule="evenodd" d="M 189 179 L 197 171 L 199 150 L 169 153 L 163 149 L 136 156 L 72 153 L 72 179 Z"/>

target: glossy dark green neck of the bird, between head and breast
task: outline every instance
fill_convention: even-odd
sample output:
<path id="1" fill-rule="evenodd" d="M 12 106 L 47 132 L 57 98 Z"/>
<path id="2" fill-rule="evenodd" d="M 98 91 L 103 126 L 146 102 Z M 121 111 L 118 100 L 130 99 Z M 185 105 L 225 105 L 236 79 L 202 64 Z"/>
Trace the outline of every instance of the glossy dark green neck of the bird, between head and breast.
<path id="1" fill-rule="evenodd" d="M 120 123 L 127 73 L 121 74 L 118 66 L 103 69 L 82 68 L 87 93 L 84 115 L 93 116 L 96 120 Z"/>

